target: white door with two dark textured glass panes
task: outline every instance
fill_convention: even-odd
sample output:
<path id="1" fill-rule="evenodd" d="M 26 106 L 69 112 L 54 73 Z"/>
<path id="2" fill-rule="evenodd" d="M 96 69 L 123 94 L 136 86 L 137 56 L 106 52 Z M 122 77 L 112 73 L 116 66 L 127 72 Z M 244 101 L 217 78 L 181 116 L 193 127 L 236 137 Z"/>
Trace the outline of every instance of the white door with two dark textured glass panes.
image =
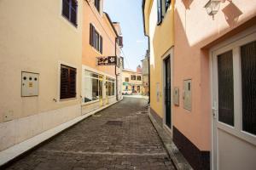
<path id="1" fill-rule="evenodd" d="M 212 169 L 256 169 L 256 33 L 212 51 Z"/>

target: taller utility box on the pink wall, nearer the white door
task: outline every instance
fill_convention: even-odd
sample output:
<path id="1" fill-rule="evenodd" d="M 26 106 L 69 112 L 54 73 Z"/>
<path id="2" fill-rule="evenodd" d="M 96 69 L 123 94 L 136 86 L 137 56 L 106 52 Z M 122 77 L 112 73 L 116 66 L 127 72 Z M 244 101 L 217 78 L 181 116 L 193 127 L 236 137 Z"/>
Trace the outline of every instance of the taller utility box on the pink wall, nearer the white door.
<path id="1" fill-rule="evenodd" d="M 191 111 L 191 99 L 192 99 L 192 81 L 184 80 L 183 82 L 183 108 L 185 110 Z"/>

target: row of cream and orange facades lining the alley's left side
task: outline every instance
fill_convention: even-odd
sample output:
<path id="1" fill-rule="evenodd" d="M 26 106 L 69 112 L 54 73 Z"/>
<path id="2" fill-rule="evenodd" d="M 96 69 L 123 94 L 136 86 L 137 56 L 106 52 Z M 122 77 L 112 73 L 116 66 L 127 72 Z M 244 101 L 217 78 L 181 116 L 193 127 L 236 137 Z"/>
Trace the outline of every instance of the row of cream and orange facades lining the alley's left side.
<path id="1" fill-rule="evenodd" d="M 121 31 L 102 5 L 1 1 L 0 151 L 122 99 Z"/>

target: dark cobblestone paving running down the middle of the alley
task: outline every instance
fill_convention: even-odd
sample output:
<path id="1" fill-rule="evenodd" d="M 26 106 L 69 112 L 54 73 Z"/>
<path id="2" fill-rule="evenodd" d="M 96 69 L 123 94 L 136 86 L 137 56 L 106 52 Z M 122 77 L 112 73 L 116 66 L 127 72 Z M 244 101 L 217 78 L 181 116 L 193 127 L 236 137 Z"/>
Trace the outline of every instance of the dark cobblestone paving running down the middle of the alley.
<path id="1" fill-rule="evenodd" d="M 125 98 L 67 129 L 7 169 L 175 169 L 146 111 L 147 100 Z"/>

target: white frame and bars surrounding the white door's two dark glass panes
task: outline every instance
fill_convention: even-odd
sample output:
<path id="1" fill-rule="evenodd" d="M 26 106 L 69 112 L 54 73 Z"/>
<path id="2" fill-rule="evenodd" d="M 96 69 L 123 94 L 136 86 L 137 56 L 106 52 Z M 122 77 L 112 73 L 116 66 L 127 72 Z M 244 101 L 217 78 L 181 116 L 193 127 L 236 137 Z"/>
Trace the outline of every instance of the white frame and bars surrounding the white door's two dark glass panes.
<path id="1" fill-rule="evenodd" d="M 230 37 L 229 39 L 225 40 L 224 42 L 220 42 L 218 45 L 214 46 L 209 50 L 209 56 L 210 56 L 210 89 L 211 89 L 211 106 L 212 106 L 212 112 L 210 114 L 211 118 L 211 155 L 210 155 L 210 161 L 211 161 L 211 169 L 215 170 L 218 169 L 218 126 L 222 129 L 224 129 L 227 133 L 231 133 L 232 135 L 235 135 L 239 139 L 243 139 L 244 141 L 247 141 L 251 144 L 256 144 L 255 142 L 255 136 L 251 133 L 247 133 L 242 131 L 242 118 L 241 118 L 241 105 L 236 105 L 237 103 L 241 104 L 241 98 L 238 98 L 236 96 L 241 95 L 241 90 L 238 90 L 239 94 L 234 93 L 234 127 L 231 127 L 229 125 L 226 125 L 222 122 L 219 122 L 218 125 L 218 94 L 214 94 L 215 91 L 218 91 L 218 87 L 216 87 L 216 84 L 218 82 L 214 82 L 216 80 L 216 71 L 217 66 L 216 61 L 214 59 L 217 59 L 218 54 L 222 54 L 224 52 L 227 52 L 229 50 L 232 50 L 233 52 L 233 72 L 234 75 L 238 75 L 238 77 L 234 77 L 234 91 L 236 89 L 241 89 L 241 84 L 236 84 L 237 81 L 241 81 L 241 68 L 240 65 L 240 50 L 239 47 L 241 45 L 247 44 L 247 42 L 252 42 L 253 40 L 256 40 L 256 26 L 252 26 L 248 28 L 246 31 L 241 31 L 234 37 Z M 235 53 L 234 53 L 235 52 Z M 238 56 L 237 56 L 238 55 Z M 238 63 L 237 63 L 238 62 Z M 234 64 L 236 65 L 234 66 Z M 217 85 L 218 86 L 218 85 Z M 216 99 L 216 100 L 214 100 Z M 238 109 L 238 111 L 236 111 Z M 215 117 L 213 116 L 215 114 Z M 215 124 L 216 120 L 216 124 Z M 217 132 L 215 132 L 215 128 Z M 215 145 L 216 144 L 216 145 Z M 214 148 L 216 147 L 216 150 Z M 215 159 L 214 160 L 214 156 Z M 215 163 L 214 163 L 215 162 Z"/>

